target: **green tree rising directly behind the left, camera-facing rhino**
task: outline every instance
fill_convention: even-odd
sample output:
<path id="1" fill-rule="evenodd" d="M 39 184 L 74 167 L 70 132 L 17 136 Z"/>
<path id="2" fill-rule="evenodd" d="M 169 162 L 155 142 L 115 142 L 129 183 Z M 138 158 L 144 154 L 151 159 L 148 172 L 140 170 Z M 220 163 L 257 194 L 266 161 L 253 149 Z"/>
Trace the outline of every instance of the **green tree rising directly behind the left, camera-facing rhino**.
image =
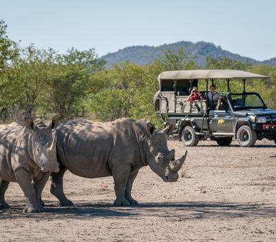
<path id="1" fill-rule="evenodd" d="M 32 113 L 37 97 L 43 92 L 50 77 L 55 58 L 54 50 L 39 50 L 33 45 L 21 49 L 19 53 L 10 61 L 1 82 L 1 107 L 11 117 L 15 110 Z"/>

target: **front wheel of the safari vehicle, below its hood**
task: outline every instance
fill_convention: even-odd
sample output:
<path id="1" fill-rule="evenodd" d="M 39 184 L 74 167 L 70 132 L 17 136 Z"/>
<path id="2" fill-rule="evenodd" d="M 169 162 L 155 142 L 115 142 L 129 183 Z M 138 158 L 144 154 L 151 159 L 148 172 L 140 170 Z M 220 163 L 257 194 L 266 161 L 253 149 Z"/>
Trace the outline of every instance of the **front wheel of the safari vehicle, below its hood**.
<path id="1" fill-rule="evenodd" d="M 237 141 L 241 147 L 253 147 L 257 140 L 257 133 L 247 125 L 243 125 L 237 131 Z"/>

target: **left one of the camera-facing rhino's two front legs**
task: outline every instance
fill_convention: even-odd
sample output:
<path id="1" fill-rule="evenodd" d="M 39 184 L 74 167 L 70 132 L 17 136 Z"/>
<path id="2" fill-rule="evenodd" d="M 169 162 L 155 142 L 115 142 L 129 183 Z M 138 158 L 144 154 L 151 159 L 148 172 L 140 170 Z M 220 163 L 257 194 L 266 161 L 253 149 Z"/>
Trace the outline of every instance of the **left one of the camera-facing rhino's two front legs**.
<path id="1" fill-rule="evenodd" d="M 37 196 L 35 194 L 34 186 L 32 185 L 32 180 L 30 179 L 29 172 L 23 168 L 18 169 L 17 171 L 15 171 L 15 177 L 17 178 L 17 183 L 26 196 L 27 204 L 23 212 L 40 212 L 39 206 L 37 205 Z"/>

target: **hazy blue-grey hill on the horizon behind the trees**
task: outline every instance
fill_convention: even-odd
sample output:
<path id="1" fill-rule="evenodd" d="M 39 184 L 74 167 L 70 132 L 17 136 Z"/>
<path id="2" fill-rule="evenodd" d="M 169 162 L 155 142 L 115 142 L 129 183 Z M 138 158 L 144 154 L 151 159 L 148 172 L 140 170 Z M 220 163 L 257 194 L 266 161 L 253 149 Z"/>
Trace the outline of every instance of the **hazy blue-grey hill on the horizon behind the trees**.
<path id="1" fill-rule="evenodd" d="M 163 55 L 163 51 L 166 49 L 175 50 L 177 48 L 186 48 L 191 55 L 197 56 L 197 63 L 200 66 L 205 65 L 206 57 L 211 54 L 213 57 L 228 57 L 230 59 L 237 59 L 242 62 L 251 62 L 253 64 L 268 64 L 270 66 L 276 66 L 276 58 L 271 58 L 263 62 L 257 61 L 249 57 L 242 57 L 241 55 L 230 53 L 228 50 L 221 49 L 220 46 L 215 46 L 213 43 L 199 41 L 192 43 L 190 41 L 179 41 L 173 44 L 163 44 L 161 46 L 130 46 L 118 50 L 115 53 L 108 53 L 101 58 L 105 59 L 106 66 L 110 67 L 112 63 L 120 63 L 124 61 L 135 62 L 136 64 L 143 65 L 149 64 L 153 59 L 157 59 Z"/>

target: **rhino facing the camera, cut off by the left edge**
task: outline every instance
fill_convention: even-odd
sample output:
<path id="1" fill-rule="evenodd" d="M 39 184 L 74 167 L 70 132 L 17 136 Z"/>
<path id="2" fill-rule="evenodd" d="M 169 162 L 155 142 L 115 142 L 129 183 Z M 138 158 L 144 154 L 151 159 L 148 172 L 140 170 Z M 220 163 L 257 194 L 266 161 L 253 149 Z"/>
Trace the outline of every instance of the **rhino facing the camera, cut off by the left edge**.
<path id="1" fill-rule="evenodd" d="M 59 172 L 59 162 L 51 128 L 35 122 L 27 119 L 26 127 L 16 122 L 0 125 L 0 209 L 10 208 L 5 192 L 17 181 L 27 201 L 23 212 L 43 212 L 41 192 L 50 172 Z"/>

